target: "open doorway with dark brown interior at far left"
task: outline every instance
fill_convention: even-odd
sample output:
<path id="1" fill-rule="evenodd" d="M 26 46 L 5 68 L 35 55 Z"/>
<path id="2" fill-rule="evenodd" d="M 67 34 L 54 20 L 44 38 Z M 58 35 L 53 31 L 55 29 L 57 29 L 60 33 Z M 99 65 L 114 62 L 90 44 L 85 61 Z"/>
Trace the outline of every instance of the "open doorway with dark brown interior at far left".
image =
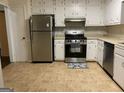
<path id="1" fill-rule="evenodd" d="M 0 11 L 0 48 L 2 68 L 10 64 L 5 12 Z"/>

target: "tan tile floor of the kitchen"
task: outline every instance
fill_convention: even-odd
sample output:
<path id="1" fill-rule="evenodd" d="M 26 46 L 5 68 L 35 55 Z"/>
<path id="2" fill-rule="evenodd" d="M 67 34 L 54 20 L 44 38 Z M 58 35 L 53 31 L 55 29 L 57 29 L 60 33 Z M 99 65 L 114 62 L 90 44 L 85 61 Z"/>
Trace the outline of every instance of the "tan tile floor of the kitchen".
<path id="1" fill-rule="evenodd" d="M 88 69 L 52 64 L 12 63 L 4 68 L 5 86 L 17 92 L 122 92 L 95 62 Z"/>

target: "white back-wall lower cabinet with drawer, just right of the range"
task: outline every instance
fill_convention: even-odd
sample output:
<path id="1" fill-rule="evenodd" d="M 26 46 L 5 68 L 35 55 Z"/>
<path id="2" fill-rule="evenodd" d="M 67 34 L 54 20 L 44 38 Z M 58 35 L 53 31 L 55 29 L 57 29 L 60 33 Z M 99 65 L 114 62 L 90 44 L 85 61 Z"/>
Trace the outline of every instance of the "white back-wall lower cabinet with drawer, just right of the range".
<path id="1" fill-rule="evenodd" d="M 97 61 L 97 40 L 87 40 L 87 61 Z"/>

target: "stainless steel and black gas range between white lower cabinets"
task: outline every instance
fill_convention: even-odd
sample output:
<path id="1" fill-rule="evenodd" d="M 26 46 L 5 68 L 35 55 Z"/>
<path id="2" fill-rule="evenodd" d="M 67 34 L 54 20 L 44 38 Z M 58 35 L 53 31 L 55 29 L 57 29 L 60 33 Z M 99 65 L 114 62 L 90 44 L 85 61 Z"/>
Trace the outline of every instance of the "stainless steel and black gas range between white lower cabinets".
<path id="1" fill-rule="evenodd" d="M 86 41 L 82 31 L 65 34 L 65 62 L 86 62 Z"/>

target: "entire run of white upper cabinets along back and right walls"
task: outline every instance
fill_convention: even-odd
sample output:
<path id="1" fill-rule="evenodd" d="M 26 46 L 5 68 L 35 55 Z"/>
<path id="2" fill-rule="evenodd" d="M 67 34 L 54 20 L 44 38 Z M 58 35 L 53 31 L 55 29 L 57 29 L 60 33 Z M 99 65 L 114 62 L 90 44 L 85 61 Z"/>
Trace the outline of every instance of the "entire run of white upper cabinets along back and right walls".
<path id="1" fill-rule="evenodd" d="M 122 0 L 31 0 L 32 14 L 55 14 L 55 25 L 65 18 L 86 18 L 86 26 L 124 23 Z M 123 7 L 122 7 L 123 6 Z"/>

